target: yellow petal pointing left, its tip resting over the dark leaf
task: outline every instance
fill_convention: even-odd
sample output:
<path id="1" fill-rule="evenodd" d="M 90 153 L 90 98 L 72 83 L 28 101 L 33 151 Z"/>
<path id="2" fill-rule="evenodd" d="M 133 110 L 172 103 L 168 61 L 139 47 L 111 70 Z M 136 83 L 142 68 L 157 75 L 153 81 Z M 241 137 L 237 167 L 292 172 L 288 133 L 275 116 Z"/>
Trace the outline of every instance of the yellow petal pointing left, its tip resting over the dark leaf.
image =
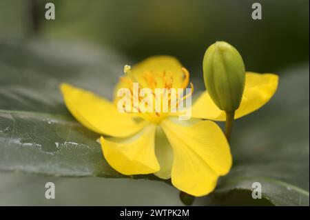
<path id="1" fill-rule="evenodd" d="M 65 83 L 61 84 L 61 92 L 71 114 L 94 132 L 128 137 L 145 126 L 145 121 L 137 123 L 130 114 L 118 112 L 110 101 L 92 92 Z"/>

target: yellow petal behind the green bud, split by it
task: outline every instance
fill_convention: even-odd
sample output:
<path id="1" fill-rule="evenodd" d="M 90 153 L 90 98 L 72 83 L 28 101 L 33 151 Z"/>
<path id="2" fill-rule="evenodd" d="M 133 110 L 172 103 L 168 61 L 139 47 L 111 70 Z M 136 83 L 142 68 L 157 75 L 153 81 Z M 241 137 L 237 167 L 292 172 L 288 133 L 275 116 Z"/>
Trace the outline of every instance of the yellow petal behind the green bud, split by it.
<path id="1" fill-rule="evenodd" d="M 235 119 L 254 112 L 267 103 L 278 88 L 276 74 L 259 74 L 247 72 L 245 75 L 245 91 L 243 92 L 240 107 L 236 110 Z M 192 107 L 192 117 L 225 121 L 225 112 L 220 110 L 205 91 Z"/>

